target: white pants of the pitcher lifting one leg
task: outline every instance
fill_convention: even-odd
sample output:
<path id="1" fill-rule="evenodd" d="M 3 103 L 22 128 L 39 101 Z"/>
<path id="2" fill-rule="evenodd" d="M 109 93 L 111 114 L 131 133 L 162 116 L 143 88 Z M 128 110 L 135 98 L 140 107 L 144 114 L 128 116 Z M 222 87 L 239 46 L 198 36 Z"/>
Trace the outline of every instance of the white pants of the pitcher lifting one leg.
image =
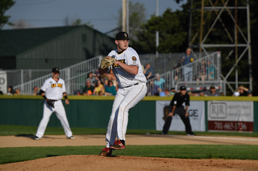
<path id="1" fill-rule="evenodd" d="M 128 124 L 128 110 L 139 103 L 147 93 L 146 83 L 139 83 L 132 87 L 120 88 L 116 92 L 110 120 L 107 127 L 106 142 L 110 147 L 117 138 L 125 140 Z"/>

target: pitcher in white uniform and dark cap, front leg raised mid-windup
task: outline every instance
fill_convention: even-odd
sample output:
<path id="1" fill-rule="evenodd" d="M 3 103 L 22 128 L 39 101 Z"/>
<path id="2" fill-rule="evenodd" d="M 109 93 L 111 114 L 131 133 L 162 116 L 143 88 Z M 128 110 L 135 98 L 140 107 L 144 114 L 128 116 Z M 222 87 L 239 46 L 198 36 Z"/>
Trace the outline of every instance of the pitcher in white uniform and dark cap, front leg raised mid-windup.
<path id="1" fill-rule="evenodd" d="M 128 110 L 139 103 L 147 93 L 146 77 L 143 74 L 137 52 L 128 47 L 131 39 L 126 32 L 116 34 L 116 50 L 112 50 L 108 56 L 115 58 L 112 69 L 118 82 L 118 91 L 112 107 L 110 120 L 106 134 L 106 148 L 100 155 L 110 156 L 112 150 L 125 149 L 125 133 L 128 124 Z M 109 68 L 99 68 L 99 73 L 104 74 Z M 117 140 L 116 139 L 117 134 Z"/>

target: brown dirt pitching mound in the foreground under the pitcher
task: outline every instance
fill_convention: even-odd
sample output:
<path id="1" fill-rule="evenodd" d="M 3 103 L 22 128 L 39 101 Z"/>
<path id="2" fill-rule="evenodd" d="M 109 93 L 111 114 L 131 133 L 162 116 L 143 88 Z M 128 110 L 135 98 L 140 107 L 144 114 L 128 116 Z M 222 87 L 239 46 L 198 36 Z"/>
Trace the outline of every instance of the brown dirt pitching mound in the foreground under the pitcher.
<path id="1" fill-rule="evenodd" d="M 256 160 L 70 155 L 0 165 L 0 170 L 257 170 Z"/>

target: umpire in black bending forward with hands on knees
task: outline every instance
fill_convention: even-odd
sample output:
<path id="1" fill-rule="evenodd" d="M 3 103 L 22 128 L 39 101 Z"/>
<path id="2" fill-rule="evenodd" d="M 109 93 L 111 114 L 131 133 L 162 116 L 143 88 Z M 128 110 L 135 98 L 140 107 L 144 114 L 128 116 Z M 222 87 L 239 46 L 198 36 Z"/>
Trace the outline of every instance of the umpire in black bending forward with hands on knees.
<path id="1" fill-rule="evenodd" d="M 182 106 L 184 102 L 186 104 L 186 109 L 184 109 L 184 106 Z M 187 113 L 187 109 L 189 105 L 190 105 L 190 97 L 189 97 L 189 94 L 186 93 L 186 86 L 181 86 L 180 92 L 174 95 L 173 99 L 169 104 L 169 106 L 172 107 L 172 111 L 168 113 L 168 117 L 163 127 L 162 135 L 165 135 L 168 133 L 168 129 L 170 127 L 174 113 L 178 114 L 182 119 L 183 123 L 185 124 L 187 135 L 195 135 L 192 132 L 192 128 L 189 121 L 189 114 Z"/>

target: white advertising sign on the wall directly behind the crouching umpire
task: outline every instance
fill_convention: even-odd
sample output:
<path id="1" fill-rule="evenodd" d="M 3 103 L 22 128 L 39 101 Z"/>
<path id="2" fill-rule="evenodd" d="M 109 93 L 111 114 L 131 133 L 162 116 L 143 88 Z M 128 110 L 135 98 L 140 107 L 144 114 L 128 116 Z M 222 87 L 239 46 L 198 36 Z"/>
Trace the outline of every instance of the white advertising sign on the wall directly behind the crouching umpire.
<path id="1" fill-rule="evenodd" d="M 170 101 L 156 101 L 156 130 L 162 131 L 169 112 Z M 185 104 L 185 103 L 184 103 Z M 189 119 L 193 131 L 205 131 L 204 101 L 190 101 Z M 185 131 L 185 125 L 175 113 L 169 131 Z"/>

